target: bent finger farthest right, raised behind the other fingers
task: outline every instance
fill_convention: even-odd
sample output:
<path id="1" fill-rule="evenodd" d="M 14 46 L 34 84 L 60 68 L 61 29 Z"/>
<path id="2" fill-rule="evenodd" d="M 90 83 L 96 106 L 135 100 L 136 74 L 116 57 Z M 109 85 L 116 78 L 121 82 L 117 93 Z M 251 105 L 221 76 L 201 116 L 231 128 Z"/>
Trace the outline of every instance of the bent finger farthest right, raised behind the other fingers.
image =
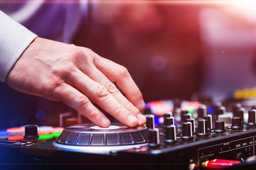
<path id="1" fill-rule="evenodd" d="M 131 101 L 134 106 L 143 110 L 144 101 L 142 93 L 133 81 L 127 69 L 119 64 L 116 64 L 110 60 L 102 58 L 100 56 L 95 57 L 95 66 L 103 74 L 106 75 L 110 81 L 115 82 L 119 89 L 121 89 L 128 100 Z"/>

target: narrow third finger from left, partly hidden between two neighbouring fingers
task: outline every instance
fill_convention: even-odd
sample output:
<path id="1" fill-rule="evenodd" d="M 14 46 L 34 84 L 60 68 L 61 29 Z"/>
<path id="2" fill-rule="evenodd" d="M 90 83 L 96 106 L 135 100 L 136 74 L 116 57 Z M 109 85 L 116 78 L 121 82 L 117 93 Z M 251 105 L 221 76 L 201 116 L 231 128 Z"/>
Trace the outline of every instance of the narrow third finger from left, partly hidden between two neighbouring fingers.
<path id="1" fill-rule="evenodd" d="M 90 72 L 87 71 L 87 69 L 90 69 Z M 139 120 L 139 125 L 144 125 L 146 123 L 146 118 L 138 108 L 136 108 L 131 102 L 127 100 L 126 97 L 117 89 L 117 87 L 109 80 L 107 77 L 105 77 L 102 72 L 100 72 L 96 67 L 86 67 L 81 68 L 82 72 L 86 72 L 87 76 L 89 76 L 91 79 L 97 81 L 98 83 L 105 86 L 107 91 L 114 96 L 114 98 L 124 106 L 128 111 L 130 111 L 133 115 L 135 115 Z"/>

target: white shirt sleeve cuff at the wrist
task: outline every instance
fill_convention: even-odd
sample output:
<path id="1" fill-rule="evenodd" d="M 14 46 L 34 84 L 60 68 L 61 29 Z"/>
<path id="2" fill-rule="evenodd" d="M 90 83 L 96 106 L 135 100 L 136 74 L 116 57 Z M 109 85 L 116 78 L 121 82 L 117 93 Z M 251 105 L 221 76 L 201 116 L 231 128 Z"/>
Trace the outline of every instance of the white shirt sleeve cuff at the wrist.
<path id="1" fill-rule="evenodd" d="M 36 34 L 0 11 L 0 81 L 6 80 L 11 68 L 36 37 Z"/>

